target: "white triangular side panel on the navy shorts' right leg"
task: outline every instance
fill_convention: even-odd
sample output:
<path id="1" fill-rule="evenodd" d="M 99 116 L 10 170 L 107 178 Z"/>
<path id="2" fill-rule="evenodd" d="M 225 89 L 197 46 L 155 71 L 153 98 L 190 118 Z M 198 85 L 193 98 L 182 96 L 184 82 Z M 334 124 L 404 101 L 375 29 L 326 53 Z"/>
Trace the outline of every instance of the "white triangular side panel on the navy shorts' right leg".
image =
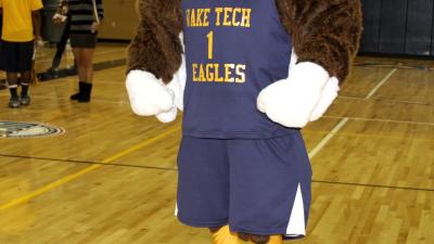
<path id="1" fill-rule="evenodd" d="M 291 211 L 290 223 L 286 228 L 286 236 L 306 235 L 305 207 L 303 204 L 302 188 L 297 188 L 294 205 Z"/>

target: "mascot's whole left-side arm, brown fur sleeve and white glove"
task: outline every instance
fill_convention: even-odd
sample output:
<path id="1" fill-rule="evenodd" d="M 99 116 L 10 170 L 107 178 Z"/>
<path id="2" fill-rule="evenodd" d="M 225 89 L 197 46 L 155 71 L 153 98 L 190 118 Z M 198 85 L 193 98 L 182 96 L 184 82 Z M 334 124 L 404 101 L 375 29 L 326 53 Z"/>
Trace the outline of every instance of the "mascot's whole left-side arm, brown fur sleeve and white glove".
<path id="1" fill-rule="evenodd" d="M 164 123 L 182 110 L 186 65 L 181 0 L 139 0 L 136 37 L 128 48 L 127 80 L 132 111 Z"/>

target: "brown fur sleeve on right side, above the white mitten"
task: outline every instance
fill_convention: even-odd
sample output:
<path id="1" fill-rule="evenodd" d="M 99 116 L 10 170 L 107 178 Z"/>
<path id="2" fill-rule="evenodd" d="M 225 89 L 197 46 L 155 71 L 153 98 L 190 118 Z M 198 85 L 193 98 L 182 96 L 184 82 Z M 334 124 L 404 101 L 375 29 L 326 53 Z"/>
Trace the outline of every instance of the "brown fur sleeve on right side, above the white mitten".
<path id="1" fill-rule="evenodd" d="M 276 0 L 298 62 L 314 62 L 341 82 L 361 36 L 360 0 Z"/>

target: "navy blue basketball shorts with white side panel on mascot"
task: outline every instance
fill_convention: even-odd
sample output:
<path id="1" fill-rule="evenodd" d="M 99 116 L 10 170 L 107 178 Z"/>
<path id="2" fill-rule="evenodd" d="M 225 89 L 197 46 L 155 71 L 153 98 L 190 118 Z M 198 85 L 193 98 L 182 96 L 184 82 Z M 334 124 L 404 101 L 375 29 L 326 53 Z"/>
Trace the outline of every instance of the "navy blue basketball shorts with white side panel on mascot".
<path id="1" fill-rule="evenodd" d="M 183 137 L 177 216 L 192 227 L 305 235 L 311 168 L 302 134 L 218 140 Z"/>

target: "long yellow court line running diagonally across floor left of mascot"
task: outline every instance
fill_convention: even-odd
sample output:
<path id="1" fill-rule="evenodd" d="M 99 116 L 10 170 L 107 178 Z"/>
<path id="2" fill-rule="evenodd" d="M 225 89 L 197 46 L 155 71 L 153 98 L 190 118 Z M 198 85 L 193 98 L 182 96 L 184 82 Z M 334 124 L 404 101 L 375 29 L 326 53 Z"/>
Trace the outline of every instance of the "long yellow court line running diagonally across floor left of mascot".
<path id="1" fill-rule="evenodd" d="M 167 136 L 169 136 L 169 134 L 171 134 L 171 133 L 174 133 L 174 132 L 176 132 L 178 130 L 179 130 L 178 127 L 174 127 L 174 128 L 171 128 L 169 130 L 166 130 L 165 132 L 159 133 L 158 136 L 156 136 L 154 138 L 145 140 L 145 141 L 143 141 L 143 142 L 141 142 L 139 144 L 136 144 L 136 145 L 133 145 L 133 146 L 131 146 L 131 147 L 129 147 L 127 150 L 124 150 L 124 151 L 122 151 L 119 153 L 116 153 L 116 154 L 103 159 L 100 165 L 91 165 L 89 167 L 86 167 L 86 168 L 77 171 L 77 172 L 69 174 L 69 175 L 67 175 L 65 177 L 62 177 L 62 178 L 60 178 L 60 179 L 58 179 L 58 180 L 55 180 L 55 181 L 53 181 L 53 182 L 51 182 L 49 184 L 46 184 L 44 187 L 36 189 L 36 190 L 34 190 L 33 192 L 30 192 L 30 193 L 28 193 L 26 195 L 23 195 L 21 197 L 17 197 L 17 198 L 14 198 L 14 200 L 12 200 L 10 202 L 7 202 L 5 204 L 0 205 L 0 211 L 9 209 L 9 208 L 12 208 L 12 207 L 17 206 L 20 204 L 23 204 L 25 202 L 28 202 L 29 200 L 33 200 L 33 198 L 35 198 L 35 197 L 37 197 L 37 196 L 39 196 L 39 195 L 41 195 L 41 194 L 43 194 L 46 192 L 49 192 L 49 191 L 51 191 L 53 189 L 56 189 L 56 188 L 59 188 L 59 187 L 61 187 L 61 185 L 63 185 L 63 184 L 65 184 L 67 182 L 71 182 L 71 181 L 73 181 L 73 180 L 75 180 L 75 179 L 77 179 L 77 178 L 79 178 L 81 176 L 85 176 L 88 172 L 91 172 L 91 171 L 93 171 L 93 170 L 95 170 L 98 168 L 101 168 L 101 167 L 103 167 L 105 165 L 108 165 L 113 160 L 116 160 L 116 159 L 118 159 L 118 158 L 120 158 L 120 157 L 123 157 L 123 156 L 125 156 L 125 155 L 127 155 L 129 153 L 132 153 L 132 152 L 135 152 L 135 151 L 137 151 L 137 150 L 139 150 L 141 147 L 148 146 L 148 145 L 154 143 L 155 141 L 158 141 L 159 139 L 165 138 L 165 137 L 167 137 Z"/>

